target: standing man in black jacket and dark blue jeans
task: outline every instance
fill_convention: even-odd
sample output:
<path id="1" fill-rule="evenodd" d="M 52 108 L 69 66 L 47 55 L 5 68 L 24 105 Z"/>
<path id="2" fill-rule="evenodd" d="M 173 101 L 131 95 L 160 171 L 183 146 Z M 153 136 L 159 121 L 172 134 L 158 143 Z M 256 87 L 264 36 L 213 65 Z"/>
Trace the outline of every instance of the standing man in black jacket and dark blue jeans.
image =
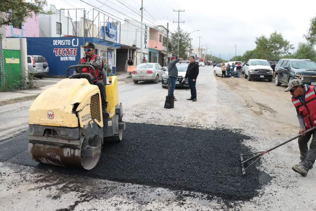
<path id="1" fill-rule="evenodd" d="M 197 101 L 197 90 L 195 88 L 197 75 L 198 75 L 199 66 L 194 62 L 194 56 L 190 56 L 190 64 L 186 70 L 184 81 L 188 79 L 189 86 L 191 89 L 191 98 L 187 100 L 192 100 L 193 102 Z"/>

